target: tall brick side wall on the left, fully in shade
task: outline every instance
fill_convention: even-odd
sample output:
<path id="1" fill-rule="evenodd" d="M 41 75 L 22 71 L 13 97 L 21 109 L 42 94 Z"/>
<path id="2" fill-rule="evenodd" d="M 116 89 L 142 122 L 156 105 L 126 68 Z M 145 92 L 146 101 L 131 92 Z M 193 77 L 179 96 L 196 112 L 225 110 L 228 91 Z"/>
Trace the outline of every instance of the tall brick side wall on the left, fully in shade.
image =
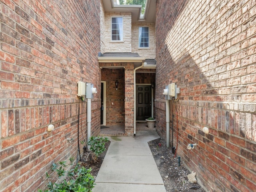
<path id="1" fill-rule="evenodd" d="M 99 12 L 99 0 L 0 2 L 1 192 L 36 191 L 46 184 L 45 172 L 53 162 L 76 158 L 77 82 L 91 82 L 100 90 Z M 86 104 L 83 112 L 86 138 Z M 49 124 L 55 126 L 51 133 Z M 96 94 L 92 134 L 99 133 L 99 126 Z"/>

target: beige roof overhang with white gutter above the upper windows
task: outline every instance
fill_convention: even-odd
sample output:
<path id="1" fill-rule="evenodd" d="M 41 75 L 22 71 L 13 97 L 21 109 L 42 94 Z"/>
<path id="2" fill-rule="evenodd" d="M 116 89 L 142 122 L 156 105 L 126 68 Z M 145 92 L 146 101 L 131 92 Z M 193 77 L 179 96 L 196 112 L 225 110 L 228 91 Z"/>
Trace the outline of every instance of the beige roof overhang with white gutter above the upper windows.
<path id="1" fill-rule="evenodd" d="M 144 15 L 140 14 L 141 5 L 117 5 L 114 0 L 102 0 L 102 3 L 105 12 L 131 12 L 132 23 L 154 23 L 156 19 L 156 0 L 146 0 Z"/>

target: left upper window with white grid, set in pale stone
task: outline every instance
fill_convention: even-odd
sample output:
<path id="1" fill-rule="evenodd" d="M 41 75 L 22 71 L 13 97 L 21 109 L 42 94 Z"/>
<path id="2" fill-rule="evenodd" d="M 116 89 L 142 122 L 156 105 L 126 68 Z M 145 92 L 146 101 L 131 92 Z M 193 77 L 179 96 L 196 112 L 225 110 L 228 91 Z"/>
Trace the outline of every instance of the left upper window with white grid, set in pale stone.
<path id="1" fill-rule="evenodd" d="M 122 17 L 112 17 L 112 41 L 122 41 L 123 40 L 123 18 Z"/>

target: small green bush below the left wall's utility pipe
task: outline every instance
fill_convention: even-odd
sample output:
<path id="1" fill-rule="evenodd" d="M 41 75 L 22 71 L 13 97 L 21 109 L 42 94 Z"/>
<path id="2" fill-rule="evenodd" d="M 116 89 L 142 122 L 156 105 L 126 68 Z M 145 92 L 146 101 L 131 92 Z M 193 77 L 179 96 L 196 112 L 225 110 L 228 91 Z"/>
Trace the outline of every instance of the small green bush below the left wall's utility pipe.
<path id="1" fill-rule="evenodd" d="M 102 154 L 106 150 L 105 143 L 108 141 L 109 139 L 107 137 L 90 137 L 88 145 L 90 146 L 90 151 L 94 162 L 96 161 L 98 156 L 100 156 L 100 154 Z"/>

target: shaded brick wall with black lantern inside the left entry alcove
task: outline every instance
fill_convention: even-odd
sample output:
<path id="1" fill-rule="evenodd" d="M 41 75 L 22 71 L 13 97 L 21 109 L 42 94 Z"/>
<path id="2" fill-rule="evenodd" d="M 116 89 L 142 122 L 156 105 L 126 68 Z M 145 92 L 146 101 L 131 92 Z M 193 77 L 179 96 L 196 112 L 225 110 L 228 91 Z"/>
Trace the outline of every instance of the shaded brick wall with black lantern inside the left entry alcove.
<path id="1" fill-rule="evenodd" d="M 101 76 L 106 81 L 106 125 L 124 125 L 124 69 L 103 68 Z"/>

